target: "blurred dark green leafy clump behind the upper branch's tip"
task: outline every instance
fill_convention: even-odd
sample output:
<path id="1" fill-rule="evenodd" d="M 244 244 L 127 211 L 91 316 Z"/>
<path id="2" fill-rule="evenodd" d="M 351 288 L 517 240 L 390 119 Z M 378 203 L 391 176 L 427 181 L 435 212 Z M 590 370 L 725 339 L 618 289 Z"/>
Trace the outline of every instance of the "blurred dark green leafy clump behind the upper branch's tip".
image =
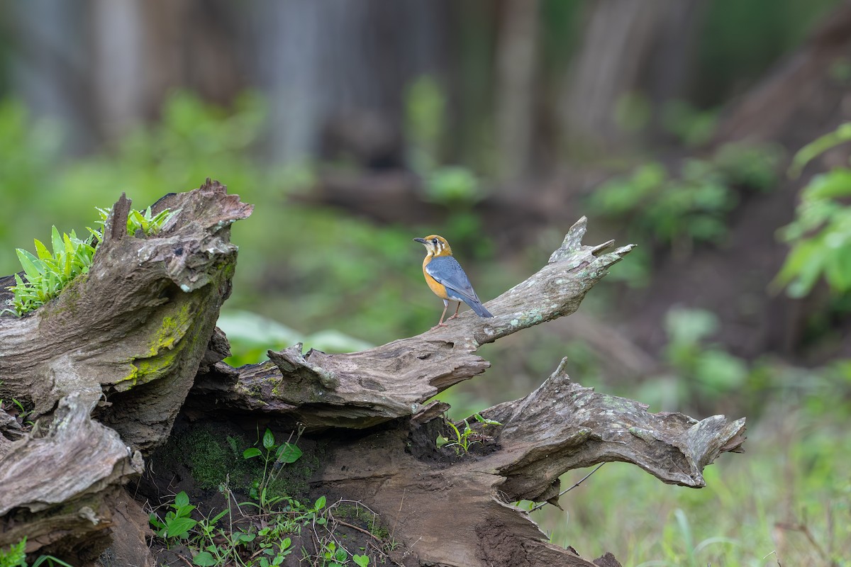
<path id="1" fill-rule="evenodd" d="M 618 219 L 637 240 L 718 244 L 739 190 L 768 190 L 779 153 L 773 147 L 727 145 L 711 160 L 684 160 L 677 175 L 648 162 L 626 177 L 602 184 L 591 195 L 591 213 Z"/>

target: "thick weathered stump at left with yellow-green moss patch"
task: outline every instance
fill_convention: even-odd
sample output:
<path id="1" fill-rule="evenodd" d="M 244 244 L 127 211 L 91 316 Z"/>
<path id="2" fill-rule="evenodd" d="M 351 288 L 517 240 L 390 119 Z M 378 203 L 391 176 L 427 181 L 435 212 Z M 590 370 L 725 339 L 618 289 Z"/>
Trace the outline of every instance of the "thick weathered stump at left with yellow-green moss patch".
<path id="1" fill-rule="evenodd" d="M 231 291 L 229 226 L 253 207 L 209 180 L 153 208 L 167 207 L 179 212 L 157 235 L 129 235 L 122 196 L 88 274 L 0 317 L 0 398 L 35 421 L 21 438 L 0 415 L 0 546 L 86 547 L 142 472 L 140 450 L 168 437 Z"/>

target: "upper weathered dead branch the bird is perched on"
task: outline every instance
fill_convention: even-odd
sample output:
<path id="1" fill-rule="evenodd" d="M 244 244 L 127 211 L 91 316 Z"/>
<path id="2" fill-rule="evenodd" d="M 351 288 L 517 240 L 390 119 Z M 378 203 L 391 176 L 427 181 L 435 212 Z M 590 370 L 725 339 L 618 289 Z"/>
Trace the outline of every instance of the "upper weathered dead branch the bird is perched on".
<path id="1" fill-rule="evenodd" d="M 479 346 L 529 326 L 570 315 L 585 293 L 632 246 L 606 252 L 608 241 L 582 245 L 586 218 L 574 224 L 548 264 L 487 303 L 494 319 L 465 313 L 451 326 L 353 354 L 302 354 L 300 344 L 270 361 L 237 371 L 215 366 L 193 388 L 193 398 L 218 409 L 260 411 L 310 428 L 368 428 L 422 411 L 435 394 L 485 371 Z M 201 404 L 199 404 L 201 406 Z"/>

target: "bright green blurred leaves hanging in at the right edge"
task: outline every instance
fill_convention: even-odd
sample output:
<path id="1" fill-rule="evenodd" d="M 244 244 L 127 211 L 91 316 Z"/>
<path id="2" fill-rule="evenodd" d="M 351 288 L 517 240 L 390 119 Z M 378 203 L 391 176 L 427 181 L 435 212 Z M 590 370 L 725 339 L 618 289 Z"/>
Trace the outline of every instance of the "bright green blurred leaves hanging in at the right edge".
<path id="1" fill-rule="evenodd" d="M 851 123 L 825 134 L 799 150 L 791 174 L 798 174 L 814 157 L 851 140 Z M 820 280 L 832 292 L 851 292 L 851 168 L 834 167 L 814 175 L 801 191 L 795 218 L 778 233 L 791 250 L 774 279 L 793 298 L 802 298 Z"/>

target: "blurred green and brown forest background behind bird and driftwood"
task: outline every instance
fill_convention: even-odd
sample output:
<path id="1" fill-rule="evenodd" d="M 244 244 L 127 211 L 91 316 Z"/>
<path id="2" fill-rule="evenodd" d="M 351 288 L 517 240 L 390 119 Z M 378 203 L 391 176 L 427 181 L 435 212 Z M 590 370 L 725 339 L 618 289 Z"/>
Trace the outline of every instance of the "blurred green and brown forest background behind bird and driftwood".
<path id="1" fill-rule="evenodd" d="M 452 416 L 563 356 L 653 411 L 746 416 L 703 490 L 608 463 L 534 518 L 625 565 L 848 565 L 849 87 L 837 0 L 0 0 L 0 274 L 122 192 L 219 179 L 256 206 L 220 321 L 242 364 L 426 331 L 414 236 L 487 300 L 585 215 L 639 247 L 485 347 Z"/>

